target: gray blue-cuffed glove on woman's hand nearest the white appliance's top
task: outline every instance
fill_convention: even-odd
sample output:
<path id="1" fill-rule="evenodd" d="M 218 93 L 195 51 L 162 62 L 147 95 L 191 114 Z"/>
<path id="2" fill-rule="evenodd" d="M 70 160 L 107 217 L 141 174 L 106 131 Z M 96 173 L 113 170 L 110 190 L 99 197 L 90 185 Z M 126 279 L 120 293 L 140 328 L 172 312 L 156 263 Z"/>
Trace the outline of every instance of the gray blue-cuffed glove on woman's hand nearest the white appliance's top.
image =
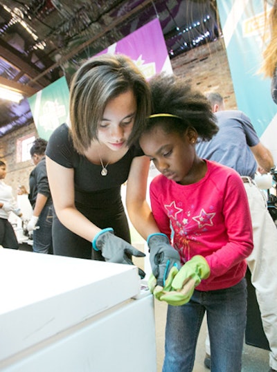
<path id="1" fill-rule="evenodd" d="M 96 234 L 92 241 L 94 250 L 100 250 L 102 257 L 107 262 L 113 263 L 127 263 L 127 265 L 134 265 L 132 263 L 132 256 L 145 257 L 145 254 L 140 250 L 134 248 L 127 241 L 118 238 L 114 235 L 114 230 L 111 227 L 101 230 Z M 139 268 L 139 276 L 141 279 L 145 277 L 145 272 Z"/>

